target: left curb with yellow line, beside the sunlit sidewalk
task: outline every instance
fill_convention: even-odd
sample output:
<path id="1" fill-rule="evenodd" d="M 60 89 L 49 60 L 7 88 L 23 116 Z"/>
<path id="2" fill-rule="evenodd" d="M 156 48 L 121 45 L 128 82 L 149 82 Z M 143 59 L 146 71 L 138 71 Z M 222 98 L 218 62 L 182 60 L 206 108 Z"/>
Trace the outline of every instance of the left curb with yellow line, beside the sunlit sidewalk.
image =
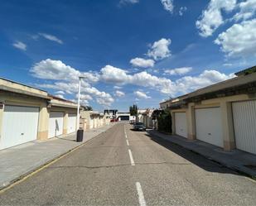
<path id="1" fill-rule="evenodd" d="M 114 125 L 112 125 L 113 127 Z M 110 128 L 109 127 L 107 130 L 105 130 L 104 132 L 107 132 Z M 104 132 L 100 132 L 98 135 L 96 135 L 95 137 L 92 137 L 91 139 L 89 139 L 88 141 L 84 141 L 82 143 L 80 143 L 80 145 L 73 147 L 72 149 L 65 151 L 63 153 L 61 153 L 60 155 L 57 155 L 53 158 L 51 158 L 51 160 L 46 160 L 45 163 L 36 166 L 35 168 L 28 170 L 26 173 L 20 175 L 19 177 L 7 182 L 5 185 L 1 185 L 0 186 L 0 194 L 4 193 L 5 191 L 7 191 L 7 189 L 11 189 L 13 186 L 22 183 L 22 181 L 27 180 L 29 177 L 31 177 L 32 175 L 36 175 L 37 172 L 45 169 L 47 166 L 55 163 L 56 161 L 62 159 L 63 157 L 69 155 L 70 153 L 72 153 L 73 151 L 78 150 L 81 146 L 84 146 L 86 143 L 88 143 L 89 141 L 94 140 L 94 138 L 99 137 L 101 134 L 103 134 Z"/>

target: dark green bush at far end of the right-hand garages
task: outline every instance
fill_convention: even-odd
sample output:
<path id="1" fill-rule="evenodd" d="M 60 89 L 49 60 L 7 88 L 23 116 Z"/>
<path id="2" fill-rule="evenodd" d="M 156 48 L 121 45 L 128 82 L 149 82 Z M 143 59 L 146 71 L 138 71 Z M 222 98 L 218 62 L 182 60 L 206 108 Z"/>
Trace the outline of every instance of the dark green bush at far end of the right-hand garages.
<path id="1" fill-rule="evenodd" d="M 171 113 L 168 110 L 162 111 L 157 117 L 158 130 L 171 132 Z"/>

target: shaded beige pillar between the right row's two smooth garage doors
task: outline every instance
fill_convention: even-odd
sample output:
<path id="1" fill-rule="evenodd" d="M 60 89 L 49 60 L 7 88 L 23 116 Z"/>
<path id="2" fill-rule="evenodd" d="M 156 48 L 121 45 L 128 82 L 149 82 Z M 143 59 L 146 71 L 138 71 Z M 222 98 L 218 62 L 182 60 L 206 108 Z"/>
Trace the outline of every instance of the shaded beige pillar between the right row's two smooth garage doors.
<path id="1" fill-rule="evenodd" d="M 189 103 L 186 111 L 186 127 L 187 138 L 189 140 L 196 140 L 196 117 L 195 117 L 195 103 Z"/>

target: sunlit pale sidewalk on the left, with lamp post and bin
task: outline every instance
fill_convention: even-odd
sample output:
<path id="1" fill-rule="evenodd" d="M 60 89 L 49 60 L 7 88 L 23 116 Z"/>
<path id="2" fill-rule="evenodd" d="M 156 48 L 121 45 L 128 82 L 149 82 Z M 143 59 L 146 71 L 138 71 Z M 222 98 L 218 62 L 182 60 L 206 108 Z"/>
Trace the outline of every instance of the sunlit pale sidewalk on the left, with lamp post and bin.
<path id="1" fill-rule="evenodd" d="M 31 141 L 0 151 L 0 189 L 113 126 L 114 124 L 111 123 L 108 126 L 85 131 L 83 142 L 76 142 L 76 134 L 72 133 L 47 141 Z"/>

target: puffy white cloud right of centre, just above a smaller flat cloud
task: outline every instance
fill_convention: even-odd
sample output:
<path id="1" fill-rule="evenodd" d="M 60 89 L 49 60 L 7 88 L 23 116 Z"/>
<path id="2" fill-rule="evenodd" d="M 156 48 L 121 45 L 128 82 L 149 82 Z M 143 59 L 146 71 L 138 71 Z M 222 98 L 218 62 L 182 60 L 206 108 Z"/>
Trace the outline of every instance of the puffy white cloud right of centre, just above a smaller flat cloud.
<path id="1" fill-rule="evenodd" d="M 155 41 L 151 48 L 147 51 L 147 56 L 152 57 L 154 60 L 162 60 L 171 55 L 171 51 L 168 46 L 171 45 L 170 39 L 162 38 L 159 41 Z"/>

